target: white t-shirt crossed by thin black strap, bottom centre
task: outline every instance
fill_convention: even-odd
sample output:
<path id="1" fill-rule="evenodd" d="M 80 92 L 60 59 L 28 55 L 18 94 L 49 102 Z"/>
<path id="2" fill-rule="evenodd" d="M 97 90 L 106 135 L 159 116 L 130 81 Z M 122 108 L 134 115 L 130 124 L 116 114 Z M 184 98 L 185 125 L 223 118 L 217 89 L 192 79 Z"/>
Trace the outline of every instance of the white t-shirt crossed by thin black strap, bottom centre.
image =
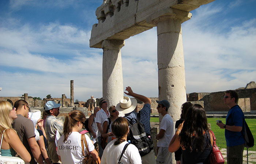
<path id="1" fill-rule="evenodd" d="M 101 158 L 101 164 L 116 164 L 119 160 L 124 146 L 128 142 L 124 141 L 121 144 L 114 145 L 116 140 L 117 139 L 114 139 L 109 142 L 109 144 L 104 149 Z M 141 164 L 142 162 L 138 148 L 136 148 L 133 144 L 129 144 L 124 152 L 123 157 L 121 158 L 121 162 L 123 164 Z"/>

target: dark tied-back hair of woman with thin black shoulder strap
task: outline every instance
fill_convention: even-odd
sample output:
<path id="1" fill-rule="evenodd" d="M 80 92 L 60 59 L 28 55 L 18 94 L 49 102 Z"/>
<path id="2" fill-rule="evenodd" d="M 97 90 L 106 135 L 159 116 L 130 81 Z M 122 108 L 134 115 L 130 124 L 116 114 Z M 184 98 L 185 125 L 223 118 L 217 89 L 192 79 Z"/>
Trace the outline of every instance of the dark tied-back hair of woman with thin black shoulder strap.
<path id="1" fill-rule="evenodd" d="M 124 117 L 118 117 L 113 123 L 112 123 L 112 131 L 114 135 L 116 136 L 117 140 L 114 142 L 114 145 L 121 144 L 125 140 L 122 139 L 127 133 L 129 129 L 129 124 L 126 118 Z"/>

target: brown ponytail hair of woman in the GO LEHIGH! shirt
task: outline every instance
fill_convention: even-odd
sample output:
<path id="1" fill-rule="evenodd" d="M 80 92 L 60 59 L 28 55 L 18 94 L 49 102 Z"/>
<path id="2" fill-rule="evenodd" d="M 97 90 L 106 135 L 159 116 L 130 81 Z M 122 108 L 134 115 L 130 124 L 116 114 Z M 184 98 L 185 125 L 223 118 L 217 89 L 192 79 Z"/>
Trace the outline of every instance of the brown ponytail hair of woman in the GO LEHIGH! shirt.
<path id="1" fill-rule="evenodd" d="M 72 128 L 79 121 L 85 121 L 85 116 L 80 110 L 72 110 L 67 114 L 63 125 L 64 141 L 67 141 L 69 134 L 72 132 Z"/>

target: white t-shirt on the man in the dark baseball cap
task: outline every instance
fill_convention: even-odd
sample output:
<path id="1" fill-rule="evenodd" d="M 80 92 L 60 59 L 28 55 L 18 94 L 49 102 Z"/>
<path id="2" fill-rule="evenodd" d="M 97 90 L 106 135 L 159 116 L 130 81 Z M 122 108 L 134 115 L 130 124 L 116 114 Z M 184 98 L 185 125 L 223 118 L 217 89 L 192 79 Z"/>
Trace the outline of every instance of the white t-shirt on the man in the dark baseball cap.
<path id="1" fill-rule="evenodd" d="M 157 142 L 158 147 L 169 147 L 170 141 L 174 136 L 174 126 L 173 119 L 169 114 L 165 114 L 161 121 L 161 125 L 159 129 L 165 130 L 165 134 L 160 138 Z M 160 131 L 160 130 L 159 130 Z"/>

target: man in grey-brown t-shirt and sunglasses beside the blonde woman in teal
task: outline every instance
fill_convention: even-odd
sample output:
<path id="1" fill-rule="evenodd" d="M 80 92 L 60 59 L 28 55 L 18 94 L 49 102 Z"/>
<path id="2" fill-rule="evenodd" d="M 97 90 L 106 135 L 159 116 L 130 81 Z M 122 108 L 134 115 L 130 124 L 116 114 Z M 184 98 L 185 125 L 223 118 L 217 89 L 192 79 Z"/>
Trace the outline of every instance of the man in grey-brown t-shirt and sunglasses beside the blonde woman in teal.
<path id="1" fill-rule="evenodd" d="M 35 140 L 34 124 L 28 119 L 30 111 L 29 104 L 23 99 L 20 99 L 14 103 L 14 108 L 16 108 L 18 117 L 12 123 L 12 128 L 16 130 L 20 141 L 30 153 L 30 164 L 37 164 L 37 162 L 43 164 L 43 157 Z"/>

